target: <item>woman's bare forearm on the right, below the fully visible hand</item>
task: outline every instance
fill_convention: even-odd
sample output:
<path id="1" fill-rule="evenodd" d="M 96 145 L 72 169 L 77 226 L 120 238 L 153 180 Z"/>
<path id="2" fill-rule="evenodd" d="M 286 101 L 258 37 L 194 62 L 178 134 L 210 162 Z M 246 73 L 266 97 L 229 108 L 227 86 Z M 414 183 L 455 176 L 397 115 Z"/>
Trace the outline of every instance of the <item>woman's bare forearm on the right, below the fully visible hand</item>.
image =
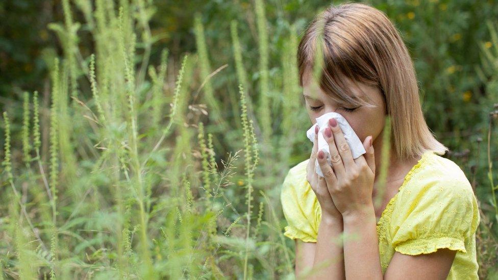
<path id="1" fill-rule="evenodd" d="M 347 279 L 383 279 L 374 206 L 344 216 L 344 269 Z"/>

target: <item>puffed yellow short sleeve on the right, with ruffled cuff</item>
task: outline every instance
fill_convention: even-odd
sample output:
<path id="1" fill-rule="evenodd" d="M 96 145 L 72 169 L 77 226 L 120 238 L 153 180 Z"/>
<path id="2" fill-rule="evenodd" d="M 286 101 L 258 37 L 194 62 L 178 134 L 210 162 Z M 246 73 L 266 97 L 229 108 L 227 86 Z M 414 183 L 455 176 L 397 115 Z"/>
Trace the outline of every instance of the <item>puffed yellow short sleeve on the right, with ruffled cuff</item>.
<path id="1" fill-rule="evenodd" d="M 461 177 L 403 190 L 393 217 L 392 246 L 403 254 L 417 255 L 449 248 L 466 253 L 465 241 L 479 224 L 477 199 L 468 180 Z"/>

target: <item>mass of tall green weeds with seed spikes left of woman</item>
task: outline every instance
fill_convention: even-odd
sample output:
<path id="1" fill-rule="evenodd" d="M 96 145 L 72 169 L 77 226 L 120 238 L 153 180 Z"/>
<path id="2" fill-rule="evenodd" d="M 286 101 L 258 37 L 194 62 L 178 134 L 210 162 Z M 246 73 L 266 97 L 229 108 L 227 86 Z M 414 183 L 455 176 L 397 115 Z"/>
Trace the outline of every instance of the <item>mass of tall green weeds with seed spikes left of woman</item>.
<path id="1" fill-rule="evenodd" d="M 192 118 L 196 112 L 189 107 L 192 86 L 199 83 L 214 117 L 208 120 L 221 125 L 221 131 L 229 129 L 211 86 L 213 75 L 200 17 L 195 19 L 200 53 L 184 55 L 176 84 L 165 90 L 168 49 L 163 49 L 159 67 L 148 63 L 153 41 L 149 3 L 120 1 L 114 6 L 97 0 L 94 12 L 90 2 L 79 1 L 76 6 L 87 20 L 95 52 L 83 57 L 78 49 L 82 24 L 73 19 L 74 7 L 63 1 L 64 24 L 48 26 L 64 50 L 63 57 L 51 65 L 49 114 L 41 115 L 37 91 L 32 104 L 29 93 L 23 96 L 21 138 L 26 168 L 12 164 L 11 121 L 7 112 L 3 115 L 3 176 L 11 190 L 9 199 L 3 199 L 10 201 L 10 210 L 8 222 L 2 225 L 2 240 L 14 238 L 15 242 L 2 241 L 1 248 L 15 254 L 2 254 L 2 276 L 224 276 L 236 274 L 237 269 L 221 269 L 220 260 L 236 257 L 231 252 L 240 251 L 235 259 L 241 262 L 242 275 L 251 278 L 254 236 L 261 230 L 264 212 L 260 203 L 253 225 L 253 181 L 259 160 L 254 115 L 247 111 L 248 98 L 241 86 L 245 174 L 237 175 L 237 180 L 246 188 L 246 213 L 239 214 L 225 194 L 233 185 L 236 173 L 232 170 L 239 165 L 239 152 L 230 153 L 218 167 L 216 131 L 208 132 L 206 139 L 199 119 L 204 114 Z M 140 32 L 144 36 L 139 41 L 136 34 Z M 140 56 L 137 50 L 143 51 Z M 197 63 L 200 77 L 194 80 Z M 47 155 L 41 150 L 44 141 L 48 141 Z M 31 191 L 25 192 L 22 186 Z M 28 212 L 21 211 L 24 207 Z M 227 207 L 231 214 L 223 216 Z M 27 218 L 33 219 L 31 231 Z M 236 242 L 242 235 L 233 235 L 240 234 L 236 230 L 241 221 L 245 229 L 239 247 Z M 10 231 L 4 232 L 7 228 Z"/>

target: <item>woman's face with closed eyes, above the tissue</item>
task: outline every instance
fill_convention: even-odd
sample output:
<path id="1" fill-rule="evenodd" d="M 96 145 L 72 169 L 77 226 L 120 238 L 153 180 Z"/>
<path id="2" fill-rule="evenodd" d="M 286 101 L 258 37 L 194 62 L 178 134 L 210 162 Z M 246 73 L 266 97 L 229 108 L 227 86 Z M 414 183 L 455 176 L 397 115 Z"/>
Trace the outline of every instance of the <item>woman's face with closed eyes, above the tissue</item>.
<path id="1" fill-rule="evenodd" d="M 360 106 L 355 109 L 352 108 L 351 105 L 337 104 L 320 89 L 313 79 L 305 79 L 304 81 L 303 96 L 305 98 L 308 114 L 313 124 L 316 123 L 315 118 L 326 113 L 336 112 L 347 120 L 356 135 L 358 135 L 358 138 L 360 138 L 360 141 L 365 141 L 365 138 L 368 135 L 371 135 L 375 143 L 377 136 L 382 133 L 384 128 L 384 118 L 386 115 L 384 97 L 382 96 L 382 91 L 378 87 L 359 83 L 361 90 L 370 97 L 370 103 L 373 103 L 375 107 Z M 363 96 L 363 93 L 351 83 L 351 80 L 346 78 L 346 84 L 351 85 L 349 91 L 352 94 L 368 101 L 368 99 Z M 313 110 L 312 107 L 316 110 Z M 355 110 L 350 111 L 347 109 Z"/>

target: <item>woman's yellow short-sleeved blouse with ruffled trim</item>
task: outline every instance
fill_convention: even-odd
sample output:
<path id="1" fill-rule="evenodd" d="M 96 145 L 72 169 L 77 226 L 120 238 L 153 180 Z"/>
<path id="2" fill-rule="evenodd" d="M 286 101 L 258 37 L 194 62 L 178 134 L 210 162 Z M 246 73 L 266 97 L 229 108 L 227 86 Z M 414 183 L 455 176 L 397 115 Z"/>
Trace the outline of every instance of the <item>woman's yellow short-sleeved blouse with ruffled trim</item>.
<path id="1" fill-rule="evenodd" d="M 288 223 L 284 235 L 316 242 L 321 208 L 306 180 L 308 161 L 289 170 L 280 199 Z M 417 255 L 449 248 L 457 253 L 447 279 L 478 279 L 476 230 L 480 221 L 477 199 L 462 169 L 426 151 L 377 222 L 382 273 L 395 251 Z"/>

